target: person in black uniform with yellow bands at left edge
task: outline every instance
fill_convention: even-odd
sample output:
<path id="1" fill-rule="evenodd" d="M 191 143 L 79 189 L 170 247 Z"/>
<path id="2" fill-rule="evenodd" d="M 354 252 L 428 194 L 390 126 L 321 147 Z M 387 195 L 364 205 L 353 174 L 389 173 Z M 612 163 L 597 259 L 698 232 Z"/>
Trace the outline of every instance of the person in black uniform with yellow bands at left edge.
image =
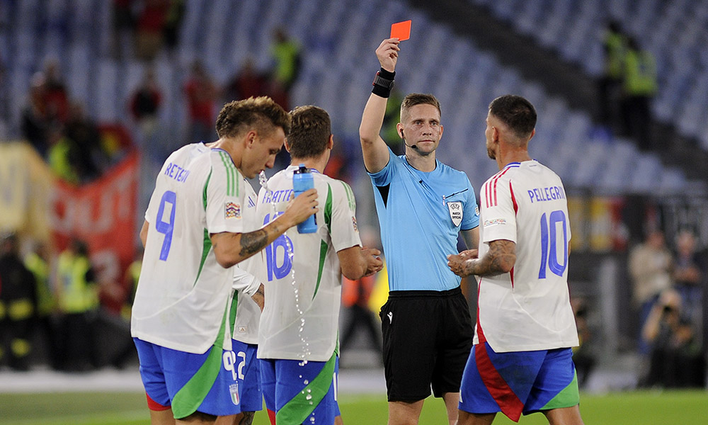
<path id="1" fill-rule="evenodd" d="M 20 258 L 15 233 L 0 240 L 0 363 L 28 370 L 37 307 L 35 278 Z"/>

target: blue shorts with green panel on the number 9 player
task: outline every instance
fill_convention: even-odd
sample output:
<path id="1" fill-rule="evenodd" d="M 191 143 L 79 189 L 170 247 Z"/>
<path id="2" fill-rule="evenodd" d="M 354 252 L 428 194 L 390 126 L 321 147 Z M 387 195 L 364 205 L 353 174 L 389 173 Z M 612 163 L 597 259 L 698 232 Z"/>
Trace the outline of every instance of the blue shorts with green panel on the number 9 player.
<path id="1" fill-rule="evenodd" d="M 171 406 L 175 419 L 194 412 L 227 416 L 241 412 L 236 353 L 212 346 L 206 353 L 177 351 L 133 338 L 147 396 Z"/>

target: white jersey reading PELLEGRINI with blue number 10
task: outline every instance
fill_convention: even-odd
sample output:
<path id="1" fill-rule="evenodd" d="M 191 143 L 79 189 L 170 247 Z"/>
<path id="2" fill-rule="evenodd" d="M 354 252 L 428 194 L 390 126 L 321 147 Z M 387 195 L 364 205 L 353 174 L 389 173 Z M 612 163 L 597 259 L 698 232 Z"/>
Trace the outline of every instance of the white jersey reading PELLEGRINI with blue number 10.
<path id="1" fill-rule="evenodd" d="M 479 278 L 474 344 L 497 352 L 578 345 L 568 291 L 571 226 L 561 179 L 536 161 L 513 162 L 480 191 L 479 258 L 489 242 L 516 244 L 510 273 Z"/>

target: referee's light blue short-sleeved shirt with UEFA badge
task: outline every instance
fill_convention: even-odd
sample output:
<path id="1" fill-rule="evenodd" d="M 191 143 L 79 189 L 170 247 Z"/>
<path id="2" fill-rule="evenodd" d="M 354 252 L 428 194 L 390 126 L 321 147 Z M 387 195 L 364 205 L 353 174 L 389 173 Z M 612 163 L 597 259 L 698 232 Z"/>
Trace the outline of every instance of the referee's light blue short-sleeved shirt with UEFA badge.
<path id="1" fill-rule="evenodd" d="M 374 185 L 389 290 L 450 290 L 459 276 L 447 267 L 460 230 L 479 225 L 467 175 L 435 160 L 429 173 L 389 149 L 389 163 L 369 173 Z"/>

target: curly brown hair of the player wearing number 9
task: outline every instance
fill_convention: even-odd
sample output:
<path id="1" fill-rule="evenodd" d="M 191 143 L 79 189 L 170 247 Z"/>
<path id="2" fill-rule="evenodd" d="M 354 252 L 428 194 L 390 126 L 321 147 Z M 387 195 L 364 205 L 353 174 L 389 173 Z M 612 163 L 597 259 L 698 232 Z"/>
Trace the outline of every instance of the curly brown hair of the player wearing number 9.
<path id="1" fill-rule="evenodd" d="M 275 128 L 290 131 L 290 115 L 268 96 L 232 101 L 224 105 L 217 117 L 217 135 L 234 137 L 255 128 L 263 135 L 270 135 Z"/>

